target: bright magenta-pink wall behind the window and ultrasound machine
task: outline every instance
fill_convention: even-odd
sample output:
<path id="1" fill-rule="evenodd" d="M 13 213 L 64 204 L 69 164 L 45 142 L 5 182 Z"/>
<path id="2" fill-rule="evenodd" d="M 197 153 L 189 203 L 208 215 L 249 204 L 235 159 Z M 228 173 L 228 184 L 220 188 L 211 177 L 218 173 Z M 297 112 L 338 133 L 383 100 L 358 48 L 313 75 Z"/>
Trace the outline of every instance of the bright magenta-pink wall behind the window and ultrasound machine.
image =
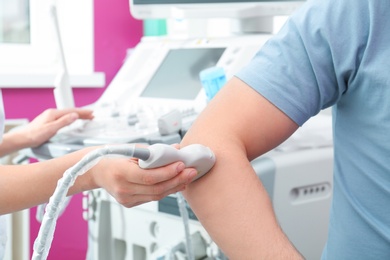
<path id="1" fill-rule="evenodd" d="M 142 35 L 142 23 L 129 13 L 128 0 L 95 0 L 95 71 L 105 72 L 108 84 L 120 68 L 128 48 Z M 95 102 L 102 88 L 75 89 L 76 106 Z M 3 89 L 7 119 L 32 120 L 46 108 L 55 107 L 52 89 Z M 22 105 L 21 105 L 22 104 Z M 85 259 L 87 222 L 82 219 L 82 195 L 73 197 L 59 218 L 48 259 Z M 38 234 L 35 208 L 31 210 L 31 248 Z"/>

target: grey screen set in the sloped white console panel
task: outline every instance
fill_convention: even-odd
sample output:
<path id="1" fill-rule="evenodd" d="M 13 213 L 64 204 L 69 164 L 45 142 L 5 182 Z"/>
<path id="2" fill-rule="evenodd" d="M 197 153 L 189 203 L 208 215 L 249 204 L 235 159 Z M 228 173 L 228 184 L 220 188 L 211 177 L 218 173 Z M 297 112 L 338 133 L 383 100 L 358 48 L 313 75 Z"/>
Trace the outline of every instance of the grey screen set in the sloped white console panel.
<path id="1" fill-rule="evenodd" d="M 215 66 L 225 48 L 169 50 L 140 97 L 194 100 L 202 85 L 199 72 Z"/>

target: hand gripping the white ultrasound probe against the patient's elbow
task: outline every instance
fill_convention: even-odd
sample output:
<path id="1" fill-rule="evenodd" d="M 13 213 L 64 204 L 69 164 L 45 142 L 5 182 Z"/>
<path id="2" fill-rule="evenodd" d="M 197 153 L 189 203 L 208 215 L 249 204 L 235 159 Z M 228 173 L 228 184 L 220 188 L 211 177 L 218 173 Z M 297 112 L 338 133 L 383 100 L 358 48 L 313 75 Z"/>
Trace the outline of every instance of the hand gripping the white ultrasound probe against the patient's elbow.
<path id="1" fill-rule="evenodd" d="M 196 170 L 185 168 L 182 162 L 146 170 L 137 161 L 105 158 L 90 170 L 89 176 L 97 187 L 107 190 L 128 208 L 183 191 L 196 176 Z"/>

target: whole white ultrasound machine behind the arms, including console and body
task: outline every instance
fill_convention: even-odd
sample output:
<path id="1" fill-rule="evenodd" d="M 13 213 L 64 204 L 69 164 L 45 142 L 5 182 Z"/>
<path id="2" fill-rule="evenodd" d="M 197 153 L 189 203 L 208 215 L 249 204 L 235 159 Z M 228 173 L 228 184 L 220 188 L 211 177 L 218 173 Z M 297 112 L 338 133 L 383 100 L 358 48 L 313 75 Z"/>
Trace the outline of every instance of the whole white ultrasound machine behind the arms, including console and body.
<path id="1" fill-rule="evenodd" d="M 90 106 L 95 119 L 76 122 L 31 153 L 47 159 L 88 145 L 180 142 L 207 105 L 199 73 L 222 67 L 226 78 L 231 78 L 272 35 L 274 16 L 289 15 L 302 3 L 130 0 L 137 19 L 162 18 L 179 27 L 189 21 L 184 31 L 196 29 L 185 37 L 142 38 L 103 95 Z M 223 36 L 208 35 L 213 26 L 210 21 L 233 29 Z M 321 256 L 333 187 L 330 115 L 315 120 L 252 161 L 282 229 L 306 259 Z M 319 125 L 321 129 L 315 129 Z M 322 136 L 307 141 L 307 133 L 321 131 Z M 172 259 L 187 259 L 176 195 L 127 209 L 104 190 L 94 190 L 88 192 L 83 207 L 89 229 L 88 259 L 167 259 L 164 255 L 169 251 Z M 188 210 L 196 259 L 226 259 Z"/>

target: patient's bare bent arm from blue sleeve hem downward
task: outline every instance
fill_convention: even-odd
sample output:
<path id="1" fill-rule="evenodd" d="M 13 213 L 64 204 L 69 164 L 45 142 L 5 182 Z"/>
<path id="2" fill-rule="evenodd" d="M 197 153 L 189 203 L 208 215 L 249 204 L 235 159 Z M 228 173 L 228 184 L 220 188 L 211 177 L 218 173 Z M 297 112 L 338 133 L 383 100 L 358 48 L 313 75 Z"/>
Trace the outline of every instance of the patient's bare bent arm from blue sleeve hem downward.
<path id="1" fill-rule="evenodd" d="M 181 143 L 207 145 L 216 155 L 214 168 L 189 185 L 184 194 L 230 259 L 301 258 L 281 231 L 249 162 L 280 144 L 297 127 L 252 88 L 233 78 Z"/>

